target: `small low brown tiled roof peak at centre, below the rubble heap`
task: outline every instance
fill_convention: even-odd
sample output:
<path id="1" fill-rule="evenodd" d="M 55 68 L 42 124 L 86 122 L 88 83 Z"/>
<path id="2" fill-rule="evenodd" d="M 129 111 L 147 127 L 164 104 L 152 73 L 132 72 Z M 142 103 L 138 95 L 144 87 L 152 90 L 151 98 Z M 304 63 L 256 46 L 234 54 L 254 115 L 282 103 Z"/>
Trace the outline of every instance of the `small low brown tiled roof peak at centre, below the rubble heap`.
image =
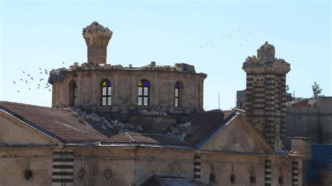
<path id="1" fill-rule="evenodd" d="M 139 134 L 137 132 L 124 132 L 111 136 L 102 141 L 102 144 L 118 144 L 118 143 L 145 143 L 155 145 L 187 145 L 177 139 L 170 138 L 161 134 Z"/>

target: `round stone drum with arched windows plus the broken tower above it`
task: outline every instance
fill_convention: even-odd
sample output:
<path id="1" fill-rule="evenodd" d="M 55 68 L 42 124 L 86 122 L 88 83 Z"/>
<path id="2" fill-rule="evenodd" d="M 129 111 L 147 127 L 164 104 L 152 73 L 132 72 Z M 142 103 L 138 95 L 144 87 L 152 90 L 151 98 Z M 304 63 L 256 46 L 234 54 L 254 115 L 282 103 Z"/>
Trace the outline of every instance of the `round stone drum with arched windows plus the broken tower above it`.
<path id="1" fill-rule="evenodd" d="M 151 62 L 139 68 L 106 64 L 111 36 L 112 31 L 97 22 L 83 29 L 88 63 L 51 71 L 53 107 L 81 106 L 104 112 L 202 110 L 205 73 L 195 73 L 195 67 L 188 64 L 157 66 Z"/>

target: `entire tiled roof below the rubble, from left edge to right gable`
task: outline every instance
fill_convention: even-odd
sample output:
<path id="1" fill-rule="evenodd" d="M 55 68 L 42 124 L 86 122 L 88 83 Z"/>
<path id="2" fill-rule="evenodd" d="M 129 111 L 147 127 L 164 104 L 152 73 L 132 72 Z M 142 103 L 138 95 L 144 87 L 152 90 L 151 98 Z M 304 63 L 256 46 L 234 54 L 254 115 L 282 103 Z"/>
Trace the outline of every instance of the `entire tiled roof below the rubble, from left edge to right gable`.
<path id="1" fill-rule="evenodd" d="M 63 143 L 74 142 L 102 142 L 102 144 L 155 144 L 155 145 L 183 145 L 194 146 L 200 141 L 211 136 L 216 129 L 223 126 L 233 117 L 235 110 L 210 110 L 195 113 L 189 120 L 191 126 L 181 129 L 186 133 L 184 141 L 179 141 L 161 134 L 138 134 L 125 132 L 116 134 L 115 131 L 102 130 L 96 124 L 78 122 L 77 117 L 62 108 L 49 108 L 34 106 L 23 103 L 0 101 L 0 110 L 11 113 L 18 118 L 38 129 L 39 131 L 57 138 Z"/>

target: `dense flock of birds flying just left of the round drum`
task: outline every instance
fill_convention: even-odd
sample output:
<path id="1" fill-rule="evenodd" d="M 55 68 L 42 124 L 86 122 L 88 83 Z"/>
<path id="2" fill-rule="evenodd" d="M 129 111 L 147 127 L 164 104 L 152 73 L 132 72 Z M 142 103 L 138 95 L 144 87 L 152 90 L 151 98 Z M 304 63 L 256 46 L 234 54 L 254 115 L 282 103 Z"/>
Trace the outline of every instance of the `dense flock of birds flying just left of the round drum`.
<path id="1" fill-rule="evenodd" d="M 62 62 L 64 64 L 64 62 Z M 50 83 L 48 83 L 48 70 L 47 69 L 41 69 L 39 67 L 39 73 L 38 77 L 36 78 L 36 75 L 32 77 L 32 74 L 27 73 L 26 71 L 22 71 L 23 78 L 20 78 L 20 80 L 13 80 L 13 84 L 20 84 L 25 83 L 27 86 L 27 90 L 48 90 L 51 91 Z M 18 86 L 21 87 L 22 86 Z M 18 93 L 22 92 L 23 90 L 17 90 Z"/>

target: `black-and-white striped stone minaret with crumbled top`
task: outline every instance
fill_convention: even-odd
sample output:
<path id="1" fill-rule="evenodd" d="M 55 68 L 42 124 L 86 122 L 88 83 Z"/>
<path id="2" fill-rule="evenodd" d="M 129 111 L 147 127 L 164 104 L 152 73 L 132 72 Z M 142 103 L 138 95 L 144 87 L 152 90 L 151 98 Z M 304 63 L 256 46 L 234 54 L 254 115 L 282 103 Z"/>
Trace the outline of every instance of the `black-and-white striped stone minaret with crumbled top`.
<path id="1" fill-rule="evenodd" d="M 247 121 L 272 148 L 281 150 L 286 129 L 286 73 L 291 66 L 275 58 L 275 47 L 265 42 L 257 57 L 247 57 L 242 69 L 247 73 Z"/>

